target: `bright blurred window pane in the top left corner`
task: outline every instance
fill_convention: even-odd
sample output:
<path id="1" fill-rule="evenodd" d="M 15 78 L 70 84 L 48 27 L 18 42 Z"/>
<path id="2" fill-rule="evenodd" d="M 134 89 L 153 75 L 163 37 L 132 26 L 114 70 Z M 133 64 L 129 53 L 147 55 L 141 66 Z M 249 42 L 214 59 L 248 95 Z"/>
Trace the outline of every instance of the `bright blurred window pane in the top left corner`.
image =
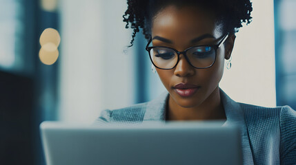
<path id="1" fill-rule="evenodd" d="M 24 9 L 21 0 L 0 0 L 0 69 L 23 69 Z"/>

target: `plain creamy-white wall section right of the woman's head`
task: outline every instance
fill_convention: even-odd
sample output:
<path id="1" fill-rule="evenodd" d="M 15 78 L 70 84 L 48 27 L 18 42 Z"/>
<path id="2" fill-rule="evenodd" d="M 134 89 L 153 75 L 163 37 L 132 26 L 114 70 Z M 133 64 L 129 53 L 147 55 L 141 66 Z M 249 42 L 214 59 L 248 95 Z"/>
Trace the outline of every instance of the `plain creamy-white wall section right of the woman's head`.
<path id="1" fill-rule="evenodd" d="M 275 39 L 273 1 L 253 1 L 253 21 L 237 33 L 232 68 L 220 87 L 238 102 L 267 107 L 275 100 Z"/>

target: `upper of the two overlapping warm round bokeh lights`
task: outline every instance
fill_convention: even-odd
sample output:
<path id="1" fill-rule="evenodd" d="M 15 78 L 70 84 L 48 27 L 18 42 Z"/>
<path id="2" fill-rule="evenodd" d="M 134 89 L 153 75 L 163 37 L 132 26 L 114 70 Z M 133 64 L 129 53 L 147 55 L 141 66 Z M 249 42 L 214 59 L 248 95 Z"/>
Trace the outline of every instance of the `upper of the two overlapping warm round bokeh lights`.
<path id="1" fill-rule="evenodd" d="M 61 36 L 59 32 L 53 28 L 47 28 L 44 30 L 40 36 L 40 45 L 43 46 L 46 43 L 54 43 L 59 47 L 59 43 L 61 42 Z"/>

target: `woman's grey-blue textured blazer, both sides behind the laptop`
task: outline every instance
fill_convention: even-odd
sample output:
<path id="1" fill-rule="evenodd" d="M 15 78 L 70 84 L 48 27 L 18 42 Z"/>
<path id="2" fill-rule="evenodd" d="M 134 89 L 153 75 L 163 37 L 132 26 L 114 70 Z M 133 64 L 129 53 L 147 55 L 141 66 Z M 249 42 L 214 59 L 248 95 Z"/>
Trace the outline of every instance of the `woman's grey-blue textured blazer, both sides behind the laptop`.
<path id="1" fill-rule="evenodd" d="M 241 126 L 244 164 L 296 164 L 296 111 L 288 106 L 259 107 L 235 102 L 220 89 L 228 124 Z M 150 102 L 106 109 L 94 124 L 166 121 L 168 92 Z"/>

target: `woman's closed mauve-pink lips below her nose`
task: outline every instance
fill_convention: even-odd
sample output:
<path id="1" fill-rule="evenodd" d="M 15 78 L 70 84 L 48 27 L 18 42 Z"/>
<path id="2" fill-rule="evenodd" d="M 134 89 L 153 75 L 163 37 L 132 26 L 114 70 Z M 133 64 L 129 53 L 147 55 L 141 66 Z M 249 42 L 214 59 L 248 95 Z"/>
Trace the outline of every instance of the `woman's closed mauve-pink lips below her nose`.
<path id="1" fill-rule="evenodd" d="M 177 94 L 182 97 L 193 96 L 200 87 L 188 83 L 179 83 L 173 87 Z"/>

